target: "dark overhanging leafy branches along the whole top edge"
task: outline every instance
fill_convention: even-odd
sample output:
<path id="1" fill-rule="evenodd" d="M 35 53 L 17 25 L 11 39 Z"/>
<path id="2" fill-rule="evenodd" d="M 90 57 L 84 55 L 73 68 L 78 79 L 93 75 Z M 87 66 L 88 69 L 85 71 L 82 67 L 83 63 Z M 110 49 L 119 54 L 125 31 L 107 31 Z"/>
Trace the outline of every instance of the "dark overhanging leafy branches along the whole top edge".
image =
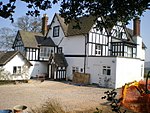
<path id="1" fill-rule="evenodd" d="M 149 0 L 21 0 L 28 7 L 27 15 L 39 16 L 40 10 L 52 8 L 53 4 L 61 2 L 60 14 L 68 23 L 81 16 L 93 15 L 102 17 L 97 20 L 97 27 L 110 27 L 118 21 L 127 24 L 129 20 L 141 16 L 146 9 L 150 9 Z M 4 4 L 0 2 L 0 16 L 10 18 L 13 22 L 16 0 L 9 0 Z M 95 21 L 95 20 L 93 20 Z"/>

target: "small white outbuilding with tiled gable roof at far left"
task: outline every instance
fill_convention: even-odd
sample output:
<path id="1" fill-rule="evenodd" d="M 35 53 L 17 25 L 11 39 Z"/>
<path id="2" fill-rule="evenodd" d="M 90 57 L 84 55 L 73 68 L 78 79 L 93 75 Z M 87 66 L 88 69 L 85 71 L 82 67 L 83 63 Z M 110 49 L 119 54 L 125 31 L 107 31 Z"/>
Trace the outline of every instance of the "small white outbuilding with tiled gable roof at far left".
<path id="1" fill-rule="evenodd" d="M 28 80 L 32 64 L 19 52 L 0 52 L 0 80 Z"/>

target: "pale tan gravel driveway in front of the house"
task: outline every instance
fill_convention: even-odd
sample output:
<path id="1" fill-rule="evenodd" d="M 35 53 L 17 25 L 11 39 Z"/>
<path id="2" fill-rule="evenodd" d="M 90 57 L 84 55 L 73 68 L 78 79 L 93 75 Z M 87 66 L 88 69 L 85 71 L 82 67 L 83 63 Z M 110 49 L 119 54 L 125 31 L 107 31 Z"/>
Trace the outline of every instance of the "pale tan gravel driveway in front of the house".
<path id="1" fill-rule="evenodd" d="M 56 81 L 29 81 L 17 85 L 0 86 L 0 109 L 12 109 L 15 105 L 26 105 L 34 108 L 47 99 L 57 99 L 67 110 L 95 108 L 106 102 L 101 97 L 108 89 L 75 86 Z"/>

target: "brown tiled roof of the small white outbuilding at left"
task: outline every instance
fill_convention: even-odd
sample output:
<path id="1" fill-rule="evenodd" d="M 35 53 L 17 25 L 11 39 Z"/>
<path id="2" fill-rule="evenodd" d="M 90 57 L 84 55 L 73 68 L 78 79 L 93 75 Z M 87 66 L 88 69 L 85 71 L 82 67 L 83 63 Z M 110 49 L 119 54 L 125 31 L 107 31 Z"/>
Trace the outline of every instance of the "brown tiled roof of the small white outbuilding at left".
<path id="1" fill-rule="evenodd" d="M 9 62 L 15 55 L 21 54 L 19 51 L 7 51 L 7 52 L 0 52 L 0 66 L 5 65 Z M 22 54 L 21 54 L 22 55 Z M 22 55 L 23 56 L 23 55 Z M 24 57 L 24 56 L 23 56 Z M 25 57 L 24 57 L 25 58 Z M 26 58 L 25 58 L 26 59 Z M 27 59 L 26 61 L 32 65 Z"/>

